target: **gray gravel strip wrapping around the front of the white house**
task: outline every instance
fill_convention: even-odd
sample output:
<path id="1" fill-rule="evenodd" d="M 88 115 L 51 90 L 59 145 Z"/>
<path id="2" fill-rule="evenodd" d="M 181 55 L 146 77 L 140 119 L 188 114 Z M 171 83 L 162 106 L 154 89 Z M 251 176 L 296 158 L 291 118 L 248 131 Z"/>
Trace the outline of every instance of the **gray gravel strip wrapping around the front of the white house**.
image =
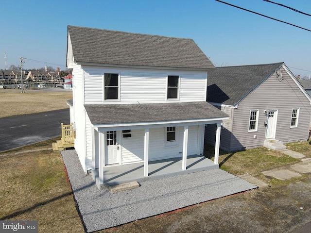
<path id="1" fill-rule="evenodd" d="M 85 175 L 75 150 L 62 151 L 70 184 L 86 232 L 155 216 L 207 200 L 257 188 L 221 169 L 140 183 L 137 189 L 111 193 L 98 190 Z"/>

